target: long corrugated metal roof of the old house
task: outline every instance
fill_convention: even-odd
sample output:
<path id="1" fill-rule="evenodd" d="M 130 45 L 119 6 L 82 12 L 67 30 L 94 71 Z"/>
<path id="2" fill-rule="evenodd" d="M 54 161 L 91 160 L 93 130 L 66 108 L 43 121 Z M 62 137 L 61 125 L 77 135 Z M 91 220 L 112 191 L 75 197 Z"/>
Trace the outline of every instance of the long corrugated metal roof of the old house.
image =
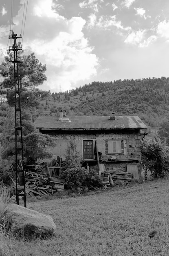
<path id="1" fill-rule="evenodd" d="M 35 120 L 34 125 L 35 128 L 55 130 L 147 128 L 138 116 L 115 116 L 115 120 L 110 120 L 110 116 L 70 116 L 66 118 L 69 118 L 70 122 L 60 121 L 59 117 L 40 116 Z"/>

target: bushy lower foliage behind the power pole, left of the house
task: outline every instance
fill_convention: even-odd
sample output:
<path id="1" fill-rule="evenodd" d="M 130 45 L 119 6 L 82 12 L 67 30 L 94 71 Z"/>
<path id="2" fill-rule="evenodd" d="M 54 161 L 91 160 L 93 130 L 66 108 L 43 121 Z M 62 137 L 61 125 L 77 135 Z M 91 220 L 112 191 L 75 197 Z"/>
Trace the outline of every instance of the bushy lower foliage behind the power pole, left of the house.
<path id="1" fill-rule="evenodd" d="M 43 159 L 52 157 L 51 147 L 55 146 L 55 140 L 49 135 L 44 135 L 35 130 L 33 124 L 28 119 L 23 119 L 23 150 L 24 161 L 29 164 L 35 164 L 37 158 Z M 8 159 L 15 163 L 15 129 L 11 129 L 2 144 L 2 159 Z M 21 137 L 18 136 L 18 145 Z M 4 139 L 2 139 L 4 141 Z M 1 142 L 2 143 L 2 142 Z M 18 155 L 18 159 L 22 159 Z"/>

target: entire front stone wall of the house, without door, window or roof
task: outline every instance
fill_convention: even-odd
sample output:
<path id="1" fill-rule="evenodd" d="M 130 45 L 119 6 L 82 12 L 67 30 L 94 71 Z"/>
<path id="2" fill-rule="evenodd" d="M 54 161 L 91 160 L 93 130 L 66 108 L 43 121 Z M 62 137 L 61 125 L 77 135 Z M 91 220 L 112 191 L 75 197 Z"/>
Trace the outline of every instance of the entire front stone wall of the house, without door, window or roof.
<path id="1" fill-rule="evenodd" d="M 77 150 L 80 152 L 81 157 L 83 159 L 83 140 L 93 140 L 93 152 L 95 141 L 97 140 L 98 151 L 102 153 L 101 159 L 104 161 L 107 170 L 110 168 L 111 170 L 113 169 L 126 171 L 127 163 L 136 164 L 138 166 L 138 173 L 140 175 L 141 180 L 141 151 L 139 133 L 139 130 L 133 132 L 130 131 L 128 133 L 124 133 L 124 131 L 121 133 L 108 133 L 108 131 L 94 133 L 94 131 L 91 131 L 91 134 L 72 134 L 72 132 L 66 134 L 66 131 L 63 134 L 60 134 L 55 132 L 50 134 L 56 141 L 56 146 L 52 148 L 53 158 L 57 159 L 57 157 L 59 156 L 64 161 L 66 156 L 66 149 L 68 147 L 68 142 L 70 141 L 70 139 L 73 139 L 74 141 L 76 141 L 78 145 Z M 108 154 L 108 141 L 110 140 L 121 141 L 120 154 Z M 93 153 L 93 159 L 94 157 L 95 156 Z M 135 161 L 131 162 L 131 159 Z M 51 159 L 49 159 L 49 161 L 45 159 L 46 162 L 50 162 L 50 160 Z M 113 160 L 113 162 L 111 162 L 111 160 Z M 96 166 L 93 167 L 96 169 L 98 168 L 97 162 L 91 162 L 90 164 L 92 166 L 96 164 Z"/>

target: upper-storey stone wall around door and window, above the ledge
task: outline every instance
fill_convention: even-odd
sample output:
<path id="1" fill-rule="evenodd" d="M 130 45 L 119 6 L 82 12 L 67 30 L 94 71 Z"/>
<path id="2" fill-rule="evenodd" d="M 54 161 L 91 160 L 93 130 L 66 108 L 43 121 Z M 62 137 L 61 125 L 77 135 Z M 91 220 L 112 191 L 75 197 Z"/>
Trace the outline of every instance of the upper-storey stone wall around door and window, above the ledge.
<path id="1" fill-rule="evenodd" d="M 68 141 L 73 139 L 76 141 L 78 145 L 78 150 L 83 157 L 83 140 L 97 140 L 98 151 L 102 153 L 103 159 L 138 159 L 141 160 L 141 152 L 140 152 L 140 137 L 138 134 L 112 134 L 112 133 L 101 133 L 95 135 L 87 135 L 87 134 L 67 134 L 60 135 L 55 134 L 52 135 L 56 140 L 56 146 L 53 148 L 53 154 L 57 156 L 61 156 L 62 159 L 65 159 L 66 149 L 68 146 Z M 108 154 L 108 140 L 121 140 L 121 154 Z M 93 143 L 93 149 L 94 149 Z M 94 151 L 94 150 L 93 150 Z M 93 155 L 94 157 L 94 155 Z"/>

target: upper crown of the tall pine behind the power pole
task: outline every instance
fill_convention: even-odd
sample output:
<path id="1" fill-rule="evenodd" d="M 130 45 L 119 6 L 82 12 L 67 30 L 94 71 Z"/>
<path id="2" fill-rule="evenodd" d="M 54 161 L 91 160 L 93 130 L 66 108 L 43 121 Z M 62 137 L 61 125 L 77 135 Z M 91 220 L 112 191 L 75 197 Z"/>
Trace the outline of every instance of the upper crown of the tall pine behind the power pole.
<path id="1" fill-rule="evenodd" d="M 20 43 L 18 47 L 20 47 Z M 5 56 L 2 65 L 8 66 L 10 61 L 13 60 L 13 53 L 7 51 L 7 56 Z M 42 65 L 40 61 L 36 58 L 34 53 L 29 55 L 23 55 L 23 51 L 18 51 L 18 73 L 20 79 L 20 100 L 22 107 L 27 106 L 37 106 L 38 101 L 35 99 L 33 91 L 37 85 L 41 85 L 46 80 L 46 65 Z M 10 63 L 10 70 L 13 71 L 13 64 Z M 0 83 L 0 88 L 9 88 L 7 91 L 7 100 L 10 106 L 14 106 L 14 76 L 11 73 L 0 72 L 4 76 L 4 81 Z M 30 90 L 32 88 L 33 91 Z"/>

